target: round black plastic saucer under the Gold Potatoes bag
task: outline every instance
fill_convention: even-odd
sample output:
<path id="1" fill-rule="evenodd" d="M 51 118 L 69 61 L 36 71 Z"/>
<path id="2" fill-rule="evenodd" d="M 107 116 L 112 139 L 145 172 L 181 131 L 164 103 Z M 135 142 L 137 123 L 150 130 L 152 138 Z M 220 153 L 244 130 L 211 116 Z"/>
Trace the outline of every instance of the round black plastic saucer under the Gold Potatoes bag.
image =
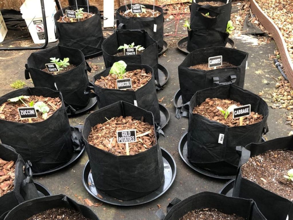
<path id="1" fill-rule="evenodd" d="M 140 204 L 150 202 L 160 197 L 161 195 L 163 195 L 172 185 L 176 176 L 176 163 L 174 158 L 165 149 L 161 148 L 161 151 L 162 151 L 163 162 L 164 162 L 164 178 L 165 179 L 159 189 L 156 189 L 154 192 L 144 197 L 128 200 L 128 201 L 122 201 L 122 200 L 115 199 L 114 197 L 111 197 L 108 194 L 105 194 L 99 189 L 96 189 L 95 184 L 93 182 L 93 177 L 91 174 L 91 165 L 89 161 L 86 163 L 82 171 L 82 182 L 84 184 L 84 187 L 96 199 L 99 199 L 102 202 L 113 204 L 113 205 L 134 206 L 134 205 L 140 205 Z M 103 198 L 98 197 L 97 196 L 98 194 L 100 194 Z"/>

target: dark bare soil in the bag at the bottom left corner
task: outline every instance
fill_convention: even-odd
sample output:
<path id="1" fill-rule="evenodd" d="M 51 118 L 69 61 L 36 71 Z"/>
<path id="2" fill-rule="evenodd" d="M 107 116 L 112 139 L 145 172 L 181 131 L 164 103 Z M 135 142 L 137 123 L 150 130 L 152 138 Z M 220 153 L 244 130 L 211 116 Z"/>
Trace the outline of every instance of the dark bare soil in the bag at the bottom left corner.
<path id="1" fill-rule="evenodd" d="M 91 220 L 73 209 L 49 209 L 26 220 Z"/>

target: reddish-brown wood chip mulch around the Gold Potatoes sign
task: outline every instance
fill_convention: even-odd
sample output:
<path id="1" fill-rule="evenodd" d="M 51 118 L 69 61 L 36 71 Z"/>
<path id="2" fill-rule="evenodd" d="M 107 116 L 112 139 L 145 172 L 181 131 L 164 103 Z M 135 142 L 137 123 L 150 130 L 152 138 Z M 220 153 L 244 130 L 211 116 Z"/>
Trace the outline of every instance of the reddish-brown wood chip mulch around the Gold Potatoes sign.
<path id="1" fill-rule="evenodd" d="M 103 124 L 92 127 L 88 135 L 88 143 L 118 156 L 126 155 L 126 144 L 117 143 L 116 131 L 128 129 L 136 129 L 137 136 L 137 142 L 129 143 L 130 155 L 143 152 L 156 144 L 154 126 L 143 122 L 143 118 L 139 121 L 131 116 L 111 118 Z"/>

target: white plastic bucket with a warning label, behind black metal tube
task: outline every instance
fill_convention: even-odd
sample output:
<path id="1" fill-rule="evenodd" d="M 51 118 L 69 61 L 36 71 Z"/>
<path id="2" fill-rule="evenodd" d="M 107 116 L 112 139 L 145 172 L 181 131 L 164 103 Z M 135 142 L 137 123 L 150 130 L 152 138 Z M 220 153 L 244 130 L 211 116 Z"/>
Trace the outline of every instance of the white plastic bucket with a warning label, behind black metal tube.
<path id="1" fill-rule="evenodd" d="M 55 23 L 54 14 L 56 13 L 56 4 L 54 0 L 44 0 L 45 14 L 47 22 L 48 42 L 55 42 Z M 45 30 L 42 18 L 42 8 L 40 0 L 25 0 L 20 7 L 22 18 L 28 26 L 30 35 L 34 43 L 45 43 Z"/>

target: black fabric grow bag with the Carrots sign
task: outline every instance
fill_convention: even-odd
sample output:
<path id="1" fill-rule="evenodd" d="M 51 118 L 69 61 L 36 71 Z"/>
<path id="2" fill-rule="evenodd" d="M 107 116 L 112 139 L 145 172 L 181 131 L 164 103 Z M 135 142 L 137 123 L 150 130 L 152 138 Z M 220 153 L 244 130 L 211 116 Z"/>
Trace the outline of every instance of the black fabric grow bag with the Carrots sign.
<path id="1" fill-rule="evenodd" d="M 209 57 L 223 56 L 223 62 L 236 67 L 225 67 L 214 70 L 199 70 L 190 66 L 208 63 Z M 225 47 L 212 47 L 195 50 L 189 53 L 178 66 L 178 77 L 183 104 L 190 101 L 193 95 L 202 89 L 234 83 L 244 86 L 245 68 L 248 53 Z"/>

